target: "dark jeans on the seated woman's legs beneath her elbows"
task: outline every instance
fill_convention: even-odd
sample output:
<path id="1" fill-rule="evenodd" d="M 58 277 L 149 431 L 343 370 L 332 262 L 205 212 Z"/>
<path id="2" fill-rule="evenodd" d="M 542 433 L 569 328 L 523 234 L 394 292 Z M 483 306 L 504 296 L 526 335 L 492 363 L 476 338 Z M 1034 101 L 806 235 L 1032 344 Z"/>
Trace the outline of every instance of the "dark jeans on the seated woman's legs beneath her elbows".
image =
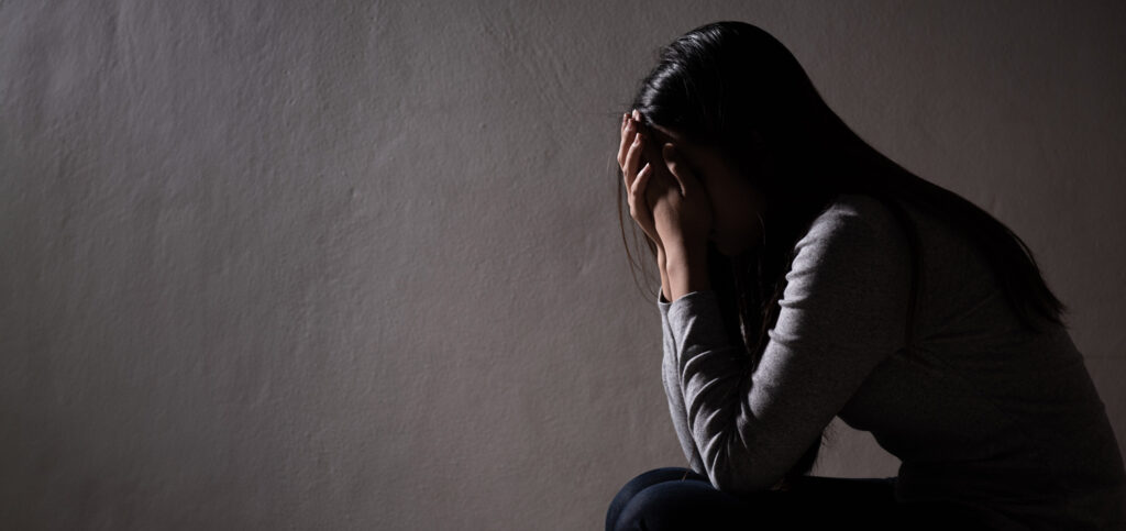
<path id="1" fill-rule="evenodd" d="M 976 529 L 953 507 L 896 503 L 894 488 L 894 477 L 803 476 L 789 490 L 736 497 L 687 468 L 658 468 L 622 487 L 606 530 Z"/>

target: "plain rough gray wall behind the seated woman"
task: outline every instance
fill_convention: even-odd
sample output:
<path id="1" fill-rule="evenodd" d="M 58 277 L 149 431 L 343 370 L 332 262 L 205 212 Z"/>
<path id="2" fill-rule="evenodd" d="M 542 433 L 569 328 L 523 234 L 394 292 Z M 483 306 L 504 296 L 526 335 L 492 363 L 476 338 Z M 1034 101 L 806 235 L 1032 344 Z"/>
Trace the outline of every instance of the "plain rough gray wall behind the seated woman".
<path id="1" fill-rule="evenodd" d="M 1028 242 L 1126 440 L 1119 3 L 686 3 L 0 2 L 3 526 L 597 529 L 683 465 L 618 119 L 718 19 Z"/>

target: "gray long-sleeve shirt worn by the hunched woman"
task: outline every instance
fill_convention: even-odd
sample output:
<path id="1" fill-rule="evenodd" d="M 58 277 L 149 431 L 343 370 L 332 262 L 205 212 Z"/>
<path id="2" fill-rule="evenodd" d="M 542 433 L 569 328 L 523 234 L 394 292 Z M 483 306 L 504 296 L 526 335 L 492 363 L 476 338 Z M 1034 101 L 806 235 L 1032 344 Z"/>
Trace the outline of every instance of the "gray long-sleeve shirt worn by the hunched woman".
<path id="1" fill-rule="evenodd" d="M 841 196 L 797 242 L 753 371 L 714 291 L 658 295 L 691 468 L 722 490 L 769 488 L 840 416 L 900 458 L 900 502 L 964 504 L 998 529 L 1124 529 L 1121 454 L 1066 328 L 1026 332 L 969 243 L 905 208 L 924 268 L 911 349 L 906 236 L 868 196 Z"/>

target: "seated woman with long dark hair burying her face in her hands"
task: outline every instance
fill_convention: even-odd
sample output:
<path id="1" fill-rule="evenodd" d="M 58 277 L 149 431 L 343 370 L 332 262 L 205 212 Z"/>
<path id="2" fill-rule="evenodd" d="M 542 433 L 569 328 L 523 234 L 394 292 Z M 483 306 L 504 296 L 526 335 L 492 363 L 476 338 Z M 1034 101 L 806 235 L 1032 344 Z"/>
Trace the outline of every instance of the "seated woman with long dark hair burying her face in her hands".
<path id="1" fill-rule="evenodd" d="M 691 468 L 628 482 L 608 530 L 1123 529 L 1117 441 L 1016 234 L 868 146 L 748 24 L 663 48 L 633 107 L 618 164 Z M 833 416 L 899 475 L 807 476 Z"/>

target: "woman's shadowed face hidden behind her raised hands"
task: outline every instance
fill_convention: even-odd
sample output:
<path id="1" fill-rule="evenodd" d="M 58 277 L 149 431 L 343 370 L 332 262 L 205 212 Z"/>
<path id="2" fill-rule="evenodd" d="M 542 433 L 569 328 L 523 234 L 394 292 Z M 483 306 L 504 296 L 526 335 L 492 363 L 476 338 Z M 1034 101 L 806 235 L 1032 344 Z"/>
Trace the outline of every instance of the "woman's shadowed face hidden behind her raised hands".
<path id="1" fill-rule="evenodd" d="M 727 256 L 741 254 L 762 242 L 759 216 L 766 215 L 762 195 L 750 183 L 750 176 L 736 171 L 734 161 L 711 145 L 690 142 L 676 130 L 652 126 L 656 145 L 671 142 L 688 169 L 704 186 L 712 202 L 709 240 Z"/>

